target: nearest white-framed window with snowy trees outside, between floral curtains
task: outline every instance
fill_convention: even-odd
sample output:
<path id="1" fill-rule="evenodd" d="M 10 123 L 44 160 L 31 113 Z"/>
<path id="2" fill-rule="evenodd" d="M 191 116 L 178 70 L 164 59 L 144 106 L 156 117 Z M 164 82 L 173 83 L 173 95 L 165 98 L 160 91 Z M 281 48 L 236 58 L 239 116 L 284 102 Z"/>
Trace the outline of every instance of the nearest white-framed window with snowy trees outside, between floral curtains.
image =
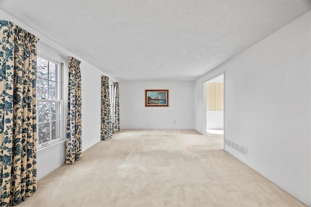
<path id="1" fill-rule="evenodd" d="M 37 58 L 36 105 L 38 148 L 62 140 L 62 63 Z"/>

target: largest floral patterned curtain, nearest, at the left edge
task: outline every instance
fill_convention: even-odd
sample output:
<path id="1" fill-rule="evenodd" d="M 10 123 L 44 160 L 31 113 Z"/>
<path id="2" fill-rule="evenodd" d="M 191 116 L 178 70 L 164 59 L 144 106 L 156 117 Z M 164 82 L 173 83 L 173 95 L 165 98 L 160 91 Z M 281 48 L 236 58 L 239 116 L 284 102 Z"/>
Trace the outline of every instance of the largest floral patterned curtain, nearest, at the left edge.
<path id="1" fill-rule="evenodd" d="M 15 206 L 36 191 L 36 44 L 0 20 L 0 203 Z"/>

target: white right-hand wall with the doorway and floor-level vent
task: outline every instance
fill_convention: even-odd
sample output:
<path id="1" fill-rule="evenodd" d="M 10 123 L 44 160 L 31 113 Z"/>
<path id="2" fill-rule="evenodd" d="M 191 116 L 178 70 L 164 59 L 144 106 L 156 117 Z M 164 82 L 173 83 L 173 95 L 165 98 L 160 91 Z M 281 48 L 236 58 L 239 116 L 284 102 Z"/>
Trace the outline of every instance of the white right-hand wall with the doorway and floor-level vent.
<path id="1" fill-rule="evenodd" d="M 203 132 L 203 84 L 225 72 L 225 150 L 311 205 L 311 12 L 195 82 Z"/>

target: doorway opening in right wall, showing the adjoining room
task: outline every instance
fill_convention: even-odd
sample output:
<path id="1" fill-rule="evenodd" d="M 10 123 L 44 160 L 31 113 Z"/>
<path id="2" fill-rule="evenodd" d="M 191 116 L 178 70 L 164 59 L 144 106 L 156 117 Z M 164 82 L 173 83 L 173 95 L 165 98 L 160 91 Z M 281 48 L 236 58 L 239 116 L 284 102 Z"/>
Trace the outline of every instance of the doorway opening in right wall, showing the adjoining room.
<path id="1" fill-rule="evenodd" d="M 225 74 L 219 75 L 204 83 L 204 132 L 206 135 L 214 137 L 215 141 L 221 142 L 224 148 L 224 92 L 225 92 Z"/>

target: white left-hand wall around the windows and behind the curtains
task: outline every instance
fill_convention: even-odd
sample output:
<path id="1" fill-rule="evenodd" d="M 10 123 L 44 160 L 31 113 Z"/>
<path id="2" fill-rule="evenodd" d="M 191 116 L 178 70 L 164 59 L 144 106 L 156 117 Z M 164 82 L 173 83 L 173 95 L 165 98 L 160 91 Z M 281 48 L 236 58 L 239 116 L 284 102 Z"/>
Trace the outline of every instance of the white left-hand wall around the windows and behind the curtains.
<path id="1" fill-rule="evenodd" d="M 35 34 L 40 39 L 38 43 L 38 50 L 41 49 L 41 46 L 47 45 L 51 47 L 51 51 L 57 50 L 61 54 L 61 58 L 65 57 L 68 60 L 67 56 L 73 56 L 81 60 L 82 151 L 85 151 L 95 143 L 98 143 L 100 141 L 101 134 L 101 75 L 108 75 L 2 10 L 0 10 L 0 19 L 12 21 L 28 32 Z M 55 56 L 53 58 L 57 59 Z M 68 68 L 66 65 L 68 63 L 65 62 L 64 64 L 65 68 Z M 64 73 L 66 75 L 68 70 L 64 71 Z M 112 77 L 110 77 L 110 80 L 116 81 Z M 66 87 L 67 80 L 64 80 L 64 83 L 64 86 Z M 66 94 L 68 92 L 65 91 L 64 93 Z M 65 143 L 61 142 L 44 149 L 40 149 L 37 152 L 37 179 L 41 179 L 43 176 L 49 174 L 65 163 L 65 149 Z"/>

